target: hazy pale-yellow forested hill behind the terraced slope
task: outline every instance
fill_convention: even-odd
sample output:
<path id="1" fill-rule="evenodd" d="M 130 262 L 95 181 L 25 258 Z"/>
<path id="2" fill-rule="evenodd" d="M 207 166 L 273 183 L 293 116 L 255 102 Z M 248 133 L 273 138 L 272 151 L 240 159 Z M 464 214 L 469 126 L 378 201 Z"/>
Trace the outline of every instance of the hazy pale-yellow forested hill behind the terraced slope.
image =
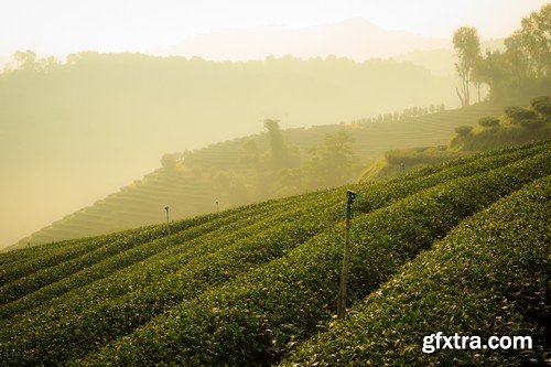
<path id="1" fill-rule="evenodd" d="M 164 153 L 257 133 L 267 118 L 310 127 L 456 104 L 449 78 L 389 60 L 83 52 L 58 62 L 26 52 L 13 64 L 0 74 L 0 188 L 9 193 L 0 246 L 153 171 Z"/>

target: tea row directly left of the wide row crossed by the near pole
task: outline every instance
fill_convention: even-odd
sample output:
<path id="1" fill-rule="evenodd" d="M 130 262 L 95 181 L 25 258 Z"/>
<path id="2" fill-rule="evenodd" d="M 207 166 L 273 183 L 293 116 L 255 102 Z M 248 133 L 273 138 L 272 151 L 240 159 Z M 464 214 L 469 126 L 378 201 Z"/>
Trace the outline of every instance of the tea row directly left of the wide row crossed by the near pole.
<path id="1" fill-rule="evenodd" d="M 298 198 L 290 204 L 301 204 L 301 196 Z M 239 272 L 250 270 L 258 263 L 283 255 L 289 248 L 315 234 L 318 228 L 335 220 L 323 217 L 323 220 L 312 222 L 310 227 L 296 224 L 300 220 L 302 225 L 305 225 L 306 218 L 312 219 L 314 216 L 320 219 L 318 216 L 323 207 L 327 211 L 327 207 L 334 207 L 338 202 L 334 195 L 329 196 L 332 205 L 327 203 L 327 198 L 321 198 L 318 203 L 312 203 L 310 198 L 311 204 L 313 204 L 311 206 L 299 205 L 290 213 L 283 211 L 276 216 L 268 217 L 264 222 L 252 222 L 251 228 L 247 228 L 244 223 L 236 222 L 235 231 L 224 228 L 224 231 L 229 233 L 228 237 L 233 239 L 230 242 L 223 242 L 217 237 L 214 237 L 210 242 L 201 238 L 201 241 L 205 242 L 201 246 L 208 247 L 210 251 L 217 248 L 219 250 L 206 251 L 205 256 L 201 257 L 197 252 L 201 255 L 205 251 L 197 251 L 197 245 L 190 251 L 193 252 L 190 253 L 193 255 L 190 259 L 190 261 L 193 260 L 192 265 L 181 263 L 182 268 L 176 273 L 162 271 L 166 269 L 158 263 L 147 267 L 145 278 L 150 283 L 155 272 L 158 276 L 166 277 L 166 279 L 161 279 L 149 288 L 144 288 L 143 291 L 141 290 L 143 284 L 133 283 L 134 291 L 120 300 L 109 296 L 106 300 L 90 301 L 79 296 L 76 303 L 65 300 L 62 307 L 52 307 L 45 310 L 44 313 L 33 312 L 32 315 L 25 314 L 18 317 L 15 322 L 4 325 L 2 341 L 6 342 L 4 347 L 13 348 L 13 350 L 18 350 L 17 353 L 23 352 L 25 359 L 20 359 L 21 357 L 17 353 L 10 355 L 8 359 L 13 360 L 14 364 L 18 360 L 21 364 L 33 364 L 37 363 L 37 359 L 31 359 L 33 354 L 39 354 L 39 358 L 43 358 L 45 354 L 54 354 L 55 358 L 63 358 L 86 352 L 85 345 L 97 348 L 96 343 L 105 343 L 120 333 L 133 328 L 155 313 L 179 303 L 184 296 L 194 296 L 209 283 L 223 282 Z M 336 211 L 329 211 L 327 217 L 335 213 Z M 251 217 L 244 218 L 244 220 L 253 219 Z M 288 220 L 287 228 L 284 228 L 288 230 L 280 228 L 280 223 L 283 220 Z M 268 228 L 268 230 L 262 234 L 262 228 Z M 250 234 L 255 233 L 257 236 L 250 238 Z M 218 237 L 224 239 L 224 236 Z M 236 263 L 236 261 L 240 262 Z M 194 274 L 194 277 L 191 279 L 181 278 L 186 273 Z M 125 283 L 128 282 L 127 277 L 118 277 L 118 279 Z M 194 279 L 195 287 L 190 288 Z M 176 288 L 179 284 L 180 289 Z M 131 285 L 130 289 L 132 289 Z M 101 290 L 100 288 L 98 291 Z M 112 294 L 111 292 L 112 289 L 109 289 L 110 294 Z M 36 326 L 39 327 L 36 328 Z M 31 345 L 33 347 L 30 347 Z M 75 347 L 71 347 L 71 345 L 75 345 Z"/>

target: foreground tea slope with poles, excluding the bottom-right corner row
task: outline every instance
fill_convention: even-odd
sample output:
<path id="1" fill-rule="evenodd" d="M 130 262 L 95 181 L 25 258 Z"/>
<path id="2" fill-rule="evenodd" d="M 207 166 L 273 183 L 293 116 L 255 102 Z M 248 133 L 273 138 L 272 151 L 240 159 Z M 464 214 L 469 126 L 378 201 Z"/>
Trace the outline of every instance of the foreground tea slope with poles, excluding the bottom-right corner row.
<path id="1" fill-rule="evenodd" d="M 549 174 L 549 143 L 511 148 L 357 185 L 353 303 L 462 218 Z M 0 255 L 0 359 L 278 360 L 288 342 L 332 320 L 342 196 L 332 190 L 177 222 L 171 246 L 152 226 Z"/>

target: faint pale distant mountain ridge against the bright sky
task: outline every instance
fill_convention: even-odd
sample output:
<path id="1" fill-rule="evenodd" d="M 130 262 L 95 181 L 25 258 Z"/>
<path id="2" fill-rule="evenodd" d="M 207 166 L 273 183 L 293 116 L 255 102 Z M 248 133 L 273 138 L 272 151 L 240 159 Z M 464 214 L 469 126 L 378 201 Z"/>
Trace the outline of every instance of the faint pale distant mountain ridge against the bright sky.
<path id="1" fill-rule="evenodd" d="M 386 58 L 413 50 L 450 48 L 451 41 L 404 31 L 386 31 L 365 19 L 291 30 L 282 26 L 220 29 L 163 50 L 165 55 L 208 60 L 259 60 L 268 55 L 346 56 L 355 61 Z"/>

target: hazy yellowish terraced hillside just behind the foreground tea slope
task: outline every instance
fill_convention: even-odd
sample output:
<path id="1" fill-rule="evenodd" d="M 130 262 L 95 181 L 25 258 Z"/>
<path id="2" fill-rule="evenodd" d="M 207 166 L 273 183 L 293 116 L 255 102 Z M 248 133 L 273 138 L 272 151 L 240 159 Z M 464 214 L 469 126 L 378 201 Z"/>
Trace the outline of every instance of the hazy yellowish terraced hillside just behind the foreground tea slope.
<path id="1" fill-rule="evenodd" d="M 354 138 L 354 150 L 366 162 L 391 149 L 447 144 L 456 127 L 475 126 L 483 116 L 498 116 L 505 104 L 484 102 L 390 122 L 288 129 L 283 131 L 283 137 L 288 144 L 300 149 L 304 161 L 309 151 L 320 144 L 325 134 L 347 131 Z M 156 170 L 105 199 L 21 239 L 15 247 L 160 223 L 165 219 L 165 205 L 170 206 L 173 219 L 214 212 L 217 201 L 220 207 L 230 207 L 235 204 L 224 197 L 220 186 L 212 177 L 216 172 L 240 172 L 245 144 L 250 140 L 256 141 L 260 151 L 268 147 L 267 134 L 262 133 L 188 152 L 182 170 Z"/>

